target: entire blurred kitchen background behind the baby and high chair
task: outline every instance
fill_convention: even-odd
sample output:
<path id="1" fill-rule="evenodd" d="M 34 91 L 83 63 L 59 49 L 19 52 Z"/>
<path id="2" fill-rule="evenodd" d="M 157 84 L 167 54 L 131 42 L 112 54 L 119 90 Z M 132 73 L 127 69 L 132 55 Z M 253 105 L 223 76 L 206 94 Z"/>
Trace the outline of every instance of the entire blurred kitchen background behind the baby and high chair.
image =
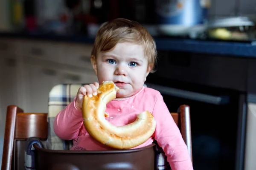
<path id="1" fill-rule="evenodd" d="M 255 0 L 0 0 L 0 160 L 7 106 L 47 113 L 55 85 L 97 81 L 94 37 L 118 17 L 156 40 L 148 87 L 190 106 L 195 170 L 255 170 Z"/>

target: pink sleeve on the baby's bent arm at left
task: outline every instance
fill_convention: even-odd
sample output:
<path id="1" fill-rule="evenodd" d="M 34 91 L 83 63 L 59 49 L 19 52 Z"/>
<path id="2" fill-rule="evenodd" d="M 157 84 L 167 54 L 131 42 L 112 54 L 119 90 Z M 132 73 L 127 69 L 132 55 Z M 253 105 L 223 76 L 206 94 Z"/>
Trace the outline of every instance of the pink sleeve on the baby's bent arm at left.
<path id="1" fill-rule="evenodd" d="M 54 132 L 59 138 L 64 140 L 75 139 L 83 125 L 82 112 L 76 109 L 75 101 L 76 98 L 60 111 L 54 119 Z"/>

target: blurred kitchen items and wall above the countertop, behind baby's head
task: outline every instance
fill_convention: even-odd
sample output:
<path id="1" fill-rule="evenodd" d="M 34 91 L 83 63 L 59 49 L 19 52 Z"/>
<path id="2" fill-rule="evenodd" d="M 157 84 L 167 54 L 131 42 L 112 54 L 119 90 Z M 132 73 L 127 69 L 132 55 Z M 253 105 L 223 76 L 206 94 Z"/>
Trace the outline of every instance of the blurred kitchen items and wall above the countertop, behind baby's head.
<path id="1" fill-rule="evenodd" d="M 154 36 L 254 39 L 253 0 L 1 0 L 0 29 L 94 37 L 101 23 L 137 20 Z"/>

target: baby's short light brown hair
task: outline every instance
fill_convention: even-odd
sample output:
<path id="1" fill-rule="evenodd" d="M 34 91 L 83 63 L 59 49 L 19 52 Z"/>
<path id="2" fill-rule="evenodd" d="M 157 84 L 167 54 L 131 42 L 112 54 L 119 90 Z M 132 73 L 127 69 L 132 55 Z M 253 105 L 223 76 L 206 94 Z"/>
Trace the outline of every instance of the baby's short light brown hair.
<path id="1" fill-rule="evenodd" d="M 100 26 L 91 55 L 97 57 L 101 51 L 111 51 L 119 42 L 143 45 L 148 64 L 152 65 L 152 70 L 154 69 L 157 59 L 154 39 L 140 23 L 124 18 L 117 18 Z M 152 70 L 151 72 L 153 72 Z"/>

